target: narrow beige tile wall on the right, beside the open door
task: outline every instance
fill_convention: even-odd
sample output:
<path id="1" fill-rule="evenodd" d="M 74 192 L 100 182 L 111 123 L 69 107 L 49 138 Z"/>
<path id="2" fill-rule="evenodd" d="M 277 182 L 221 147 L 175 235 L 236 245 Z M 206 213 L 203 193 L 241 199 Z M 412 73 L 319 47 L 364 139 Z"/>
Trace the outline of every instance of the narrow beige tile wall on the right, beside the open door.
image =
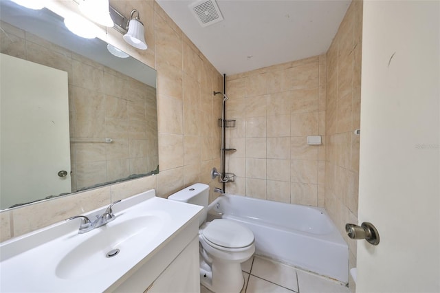
<path id="1" fill-rule="evenodd" d="M 356 241 L 346 223 L 358 223 L 362 1 L 347 10 L 327 52 L 327 153 L 325 208 L 349 243 L 350 268 L 356 266 Z M 354 291 L 353 280 L 350 287 Z"/>

